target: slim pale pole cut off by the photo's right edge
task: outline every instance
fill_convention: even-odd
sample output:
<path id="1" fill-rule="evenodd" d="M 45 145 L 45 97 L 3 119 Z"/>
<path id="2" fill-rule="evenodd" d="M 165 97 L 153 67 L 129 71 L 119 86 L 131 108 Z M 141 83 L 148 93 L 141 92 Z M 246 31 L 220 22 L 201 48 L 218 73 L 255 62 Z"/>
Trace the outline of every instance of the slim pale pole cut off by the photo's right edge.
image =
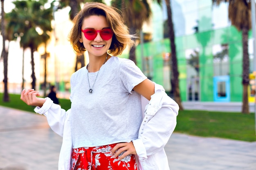
<path id="1" fill-rule="evenodd" d="M 253 55 L 254 55 L 254 71 L 256 71 L 256 30 L 255 30 L 255 0 L 251 1 L 252 14 L 252 35 L 253 35 Z M 256 91 L 256 75 L 254 75 L 255 91 Z M 256 135 L 256 94 L 254 96 L 254 114 L 255 114 L 255 135 Z"/>

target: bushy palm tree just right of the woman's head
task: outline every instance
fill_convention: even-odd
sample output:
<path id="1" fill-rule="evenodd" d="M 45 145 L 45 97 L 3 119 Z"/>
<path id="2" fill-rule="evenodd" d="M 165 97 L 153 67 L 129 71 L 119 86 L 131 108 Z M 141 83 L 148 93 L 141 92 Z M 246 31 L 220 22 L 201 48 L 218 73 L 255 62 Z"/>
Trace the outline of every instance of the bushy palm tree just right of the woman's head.
<path id="1" fill-rule="evenodd" d="M 161 4 L 161 0 L 153 0 Z M 147 0 L 112 0 L 111 5 L 117 7 L 124 17 L 126 25 L 130 28 L 130 33 L 133 35 L 139 34 L 144 22 L 148 22 L 152 11 Z M 133 39 L 135 41 L 135 38 Z M 136 46 L 133 46 L 129 51 L 129 59 L 136 62 L 135 55 Z"/>

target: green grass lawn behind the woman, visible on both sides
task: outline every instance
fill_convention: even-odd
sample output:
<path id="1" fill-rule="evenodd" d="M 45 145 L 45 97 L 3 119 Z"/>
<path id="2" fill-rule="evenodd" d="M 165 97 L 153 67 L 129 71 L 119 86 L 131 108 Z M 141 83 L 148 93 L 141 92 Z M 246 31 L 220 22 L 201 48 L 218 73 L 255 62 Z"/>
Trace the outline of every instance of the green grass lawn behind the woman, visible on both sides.
<path id="1" fill-rule="evenodd" d="M 34 113 L 32 106 L 27 106 L 20 95 L 9 94 L 10 102 L 2 102 L 3 93 L 0 93 L 0 105 Z M 69 99 L 59 99 L 61 107 L 70 108 Z M 177 126 L 174 132 L 185 133 L 201 137 L 219 137 L 241 141 L 256 141 L 254 113 L 213 112 L 202 110 L 182 110 L 177 116 Z"/>

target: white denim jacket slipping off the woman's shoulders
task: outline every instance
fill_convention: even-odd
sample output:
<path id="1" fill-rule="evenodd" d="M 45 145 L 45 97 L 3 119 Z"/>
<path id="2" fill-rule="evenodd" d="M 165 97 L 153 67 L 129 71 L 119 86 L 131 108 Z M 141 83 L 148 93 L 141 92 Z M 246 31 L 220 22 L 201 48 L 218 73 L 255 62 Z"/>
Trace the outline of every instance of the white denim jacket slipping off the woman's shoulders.
<path id="1" fill-rule="evenodd" d="M 151 96 L 150 101 L 141 96 L 141 104 L 144 119 L 139 129 L 138 139 L 132 141 L 137 152 L 138 168 L 139 170 L 169 170 L 164 146 L 175 129 L 179 106 L 168 97 L 159 84 L 155 84 L 155 94 Z M 36 107 L 34 111 L 45 115 L 52 130 L 63 137 L 58 170 L 70 170 L 72 125 L 69 115 L 71 109 L 65 111 L 47 97 L 43 106 Z"/>

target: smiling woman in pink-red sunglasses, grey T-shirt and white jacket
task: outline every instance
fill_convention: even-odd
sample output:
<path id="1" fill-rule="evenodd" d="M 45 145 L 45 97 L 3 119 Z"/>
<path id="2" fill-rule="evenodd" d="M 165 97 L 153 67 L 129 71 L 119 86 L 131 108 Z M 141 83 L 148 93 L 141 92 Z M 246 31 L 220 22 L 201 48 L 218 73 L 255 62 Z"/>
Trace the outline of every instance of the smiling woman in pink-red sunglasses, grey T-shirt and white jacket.
<path id="1" fill-rule="evenodd" d="M 116 57 L 134 45 L 132 37 L 115 8 L 86 3 L 69 35 L 74 51 L 87 51 L 90 60 L 71 77 L 71 108 L 22 91 L 63 136 L 59 170 L 169 169 L 164 146 L 179 107 L 134 62 Z"/>

